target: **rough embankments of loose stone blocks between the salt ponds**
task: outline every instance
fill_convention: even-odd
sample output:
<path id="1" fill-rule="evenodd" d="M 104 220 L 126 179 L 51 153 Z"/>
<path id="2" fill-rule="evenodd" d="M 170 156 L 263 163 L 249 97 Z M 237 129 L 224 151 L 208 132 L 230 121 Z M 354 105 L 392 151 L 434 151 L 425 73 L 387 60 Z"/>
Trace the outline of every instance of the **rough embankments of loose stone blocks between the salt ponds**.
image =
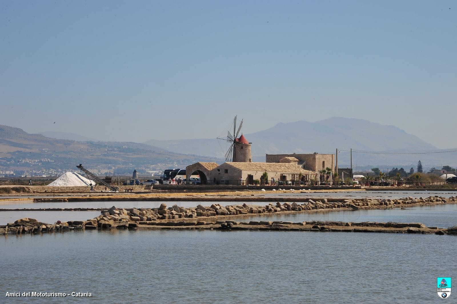
<path id="1" fill-rule="evenodd" d="M 453 234 L 447 229 L 426 227 L 419 223 L 351 223 L 351 222 L 283 222 L 283 221 L 250 221 L 222 220 L 227 216 L 240 216 L 268 213 L 314 212 L 338 208 L 393 208 L 405 204 L 446 204 L 457 202 L 457 197 L 443 198 L 431 196 L 414 199 L 344 199 L 330 202 L 330 199 L 307 199 L 307 202 L 267 204 L 265 206 L 248 206 L 212 204 L 209 207 L 198 205 L 192 208 L 182 208 L 176 204 L 167 207 L 160 204 L 156 209 L 123 209 L 113 206 L 101 210 L 101 215 L 86 221 L 68 221 L 63 223 L 46 224 L 33 219 L 16 220 L 14 223 L 0 226 L 0 234 L 6 233 L 36 233 L 62 231 L 67 229 L 98 229 L 98 228 L 191 228 L 191 229 L 251 229 L 251 230 L 303 230 L 303 231 L 351 231 L 351 232 L 398 232 L 398 233 L 435 233 Z M 455 231 L 454 231 L 455 232 Z"/>

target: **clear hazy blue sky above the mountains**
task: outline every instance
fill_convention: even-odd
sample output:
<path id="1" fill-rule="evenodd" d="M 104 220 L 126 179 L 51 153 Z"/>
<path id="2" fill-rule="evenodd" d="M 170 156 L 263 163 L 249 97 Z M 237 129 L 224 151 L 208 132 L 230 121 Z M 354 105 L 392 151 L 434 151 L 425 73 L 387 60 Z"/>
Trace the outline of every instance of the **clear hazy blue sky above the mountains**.
<path id="1" fill-rule="evenodd" d="M 343 116 L 456 147 L 456 3 L 3 1 L 0 124 L 144 142 Z"/>

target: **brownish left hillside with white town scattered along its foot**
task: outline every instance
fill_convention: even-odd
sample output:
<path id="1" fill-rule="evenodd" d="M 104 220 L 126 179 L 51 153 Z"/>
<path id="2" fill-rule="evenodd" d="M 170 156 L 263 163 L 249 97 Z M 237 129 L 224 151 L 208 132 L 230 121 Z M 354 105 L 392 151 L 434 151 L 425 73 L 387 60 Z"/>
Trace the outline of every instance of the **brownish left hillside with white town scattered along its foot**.
<path id="1" fill-rule="evenodd" d="M 78 142 L 29 134 L 22 129 L 0 125 L 0 171 L 18 174 L 59 174 L 75 171 L 82 163 L 91 170 L 112 170 L 131 174 L 146 170 L 186 167 L 194 162 L 222 162 L 166 151 L 164 148 L 136 142 Z"/>

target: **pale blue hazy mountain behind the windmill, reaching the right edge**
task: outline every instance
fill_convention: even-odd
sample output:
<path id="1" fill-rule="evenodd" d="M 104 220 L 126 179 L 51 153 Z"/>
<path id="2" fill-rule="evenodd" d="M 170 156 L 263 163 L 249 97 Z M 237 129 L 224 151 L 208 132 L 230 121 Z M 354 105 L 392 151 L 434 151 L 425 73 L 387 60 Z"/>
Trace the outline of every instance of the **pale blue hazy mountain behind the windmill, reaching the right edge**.
<path id="1" fill-rule="evenodd" d="M 385 126 L 362 119 L 333 117 L 322 121 L 296 121 L 278 123 L 276 126 L 244 134 L 252 142 L 253 161 L 264 162 L 265 154 L 281 153 L 331 153 L 336 148 L 345 150 L 339 153 L 339 166 L 350 165 L 350 149 L 372 152 L 443 152 L 456 149 L 440 150 L 408 134 L 395 126 Z M 174 152 L 193 153 L 224 157 L 228 145 L 216 139 L 192 140 L 150 140 L 145 142 L 156 147 Z M 421 160 L 427 167 L 456 164 L 457 153 L 433 154 L 373 154 L 354 151 L 353 166 L 393 165 L 402 166 Z"/>

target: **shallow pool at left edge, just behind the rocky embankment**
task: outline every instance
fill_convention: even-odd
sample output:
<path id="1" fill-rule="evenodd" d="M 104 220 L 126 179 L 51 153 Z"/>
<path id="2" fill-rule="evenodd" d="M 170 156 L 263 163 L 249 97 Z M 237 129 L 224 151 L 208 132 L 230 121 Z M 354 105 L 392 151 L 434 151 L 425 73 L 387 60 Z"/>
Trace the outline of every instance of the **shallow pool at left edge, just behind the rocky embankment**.
<path id="1" fill-rule="evenodd" d="M 0 212 L 0 225 L 6 225 L 24 217 L 53 224 L 58 220 L 63 222 L 67 220 L 89 220 L 99 215 L 100 211 L 2 211 Z"/>

